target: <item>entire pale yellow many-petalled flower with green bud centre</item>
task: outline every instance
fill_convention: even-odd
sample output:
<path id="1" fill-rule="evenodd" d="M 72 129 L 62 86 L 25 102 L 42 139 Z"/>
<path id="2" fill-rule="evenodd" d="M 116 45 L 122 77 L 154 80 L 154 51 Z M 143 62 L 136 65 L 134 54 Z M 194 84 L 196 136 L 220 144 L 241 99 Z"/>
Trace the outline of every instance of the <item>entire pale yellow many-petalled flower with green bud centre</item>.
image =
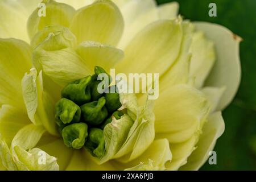
<path id="1" fill-rule="evenodd" d="M 239 36 L 183 20 L 176 2 L 39 3 L 0 2 L 0 169 L 197 170 L 207 161 L 240 84 Z M 159 73 L 159 98 L 98 95 L 100 68 Z"/>

